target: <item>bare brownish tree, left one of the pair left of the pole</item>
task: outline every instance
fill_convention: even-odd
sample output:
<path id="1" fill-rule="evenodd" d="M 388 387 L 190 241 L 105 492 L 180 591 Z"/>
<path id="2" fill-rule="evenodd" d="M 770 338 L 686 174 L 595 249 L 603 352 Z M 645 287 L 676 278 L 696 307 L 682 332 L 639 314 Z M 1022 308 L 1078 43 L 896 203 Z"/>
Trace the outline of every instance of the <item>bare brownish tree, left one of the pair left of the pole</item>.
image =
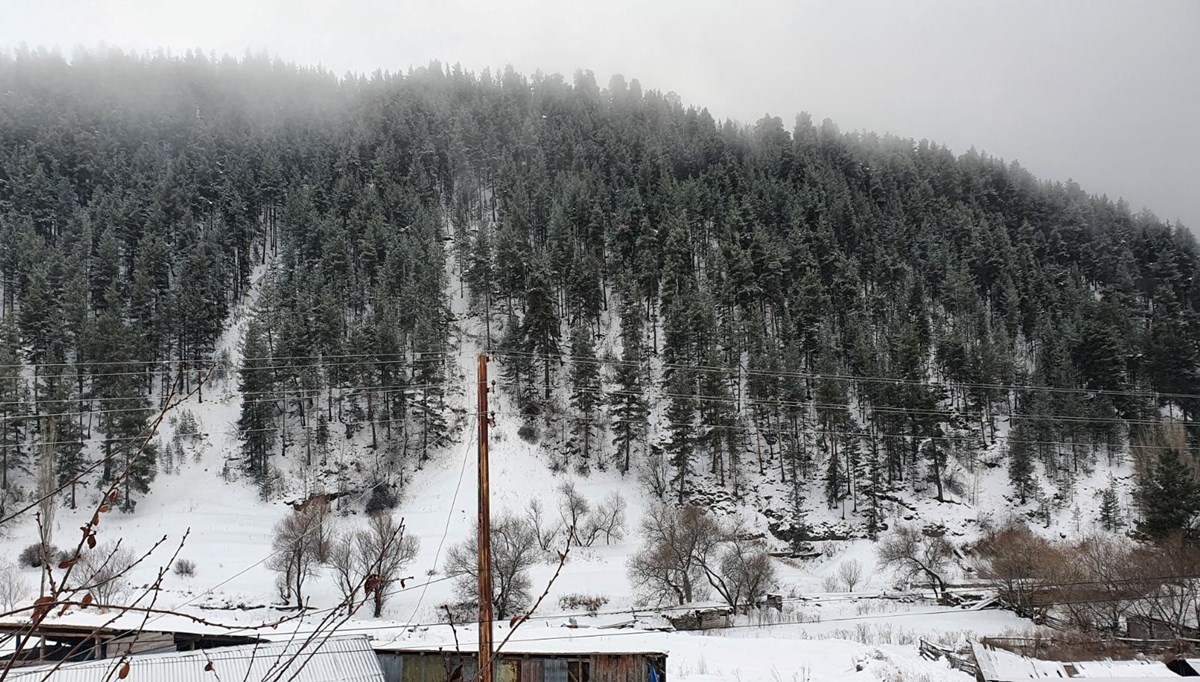
<path id="1" fill-rule="evenodd" d="M 275 525 L 271 540 L 275 554 L 266 567 L 278 573 L 275 585 L 281 599 L 289 602 L 295 597 L 296 608 L 304 609 L 304 584 L 330 558 L 329 533 L 325 510 L 319 505 L 288 514 Z"/>

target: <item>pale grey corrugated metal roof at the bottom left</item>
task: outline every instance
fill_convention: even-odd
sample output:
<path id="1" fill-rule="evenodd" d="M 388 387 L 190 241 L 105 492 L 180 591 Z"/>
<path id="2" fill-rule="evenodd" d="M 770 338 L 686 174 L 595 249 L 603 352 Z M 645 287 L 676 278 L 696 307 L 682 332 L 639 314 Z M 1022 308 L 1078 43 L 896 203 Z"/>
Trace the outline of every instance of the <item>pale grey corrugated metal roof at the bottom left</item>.
<path id="1" fill-rule="evenodd" d="M 311 654 L 311 656 L 310 656 Z M 227 646 L 179 653 L 134 656 L 126 682 L 214 682 L 293 680 L 294 682 L 384 682 L 379 660 L 365 636 L 329 638 L 310 642 Z M 204 670 L 212 663 L 212 671 Z M 8 680 L 100 682 L 116 680 L 118 659 L 65 663 L 49 677 L 53 665 L 18 668 Z M 215 675 L 214 675 L 215 672 Z M 293 677 L 294 675 L 294 677 Z"/>

